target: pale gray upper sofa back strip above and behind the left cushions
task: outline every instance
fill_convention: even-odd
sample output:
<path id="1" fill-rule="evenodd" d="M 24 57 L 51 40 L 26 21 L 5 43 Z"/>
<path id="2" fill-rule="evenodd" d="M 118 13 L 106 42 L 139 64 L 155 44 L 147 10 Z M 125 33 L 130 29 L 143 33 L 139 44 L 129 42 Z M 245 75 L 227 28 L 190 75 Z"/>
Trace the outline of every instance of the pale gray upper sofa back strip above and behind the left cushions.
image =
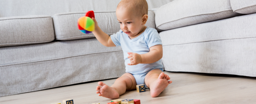
<path id="1" fill-rule="evenodd" d="M 49 15 L 62 12 L 116 11 L 121 0 L 1 0 L 0 17 Z M 173 0 L 147 0 L 148 10 Z"/>

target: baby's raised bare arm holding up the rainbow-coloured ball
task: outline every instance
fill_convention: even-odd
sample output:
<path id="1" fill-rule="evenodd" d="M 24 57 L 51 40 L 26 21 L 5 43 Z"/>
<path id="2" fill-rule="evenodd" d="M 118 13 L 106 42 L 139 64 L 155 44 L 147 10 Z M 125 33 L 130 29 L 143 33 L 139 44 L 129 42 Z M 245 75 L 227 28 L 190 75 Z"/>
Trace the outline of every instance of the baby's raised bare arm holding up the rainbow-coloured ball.
<path id="1" fill-rule="evenodd" d="M 92 33 L 94 34 L 94 36 L 96 37 L 96 39 L 103 44 L 106 47 L 115 47 L 116 45 L 114 44 L 114 42 L 111 40 L 111 37 L 108 36 L 108 34 L 104 33 L 98 26 L 97 21 L 95 20 L 95 18 L 92 18 L 93 21 L 95 22 L 95 30 L 92 31 Z"/>

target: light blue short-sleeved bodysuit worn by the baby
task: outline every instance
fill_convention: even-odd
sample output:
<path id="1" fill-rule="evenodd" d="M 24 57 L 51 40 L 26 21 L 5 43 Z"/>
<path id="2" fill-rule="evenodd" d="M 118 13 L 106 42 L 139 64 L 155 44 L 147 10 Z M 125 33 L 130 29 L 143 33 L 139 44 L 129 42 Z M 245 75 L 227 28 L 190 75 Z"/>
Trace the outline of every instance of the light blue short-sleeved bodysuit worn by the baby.
<path id="1" fill-rule="evenodd" d="M 155 45 L 162 45 L 162 41 L 156 29 L 147 27 L 145 31 L 134 39 L 130 39 L 129 36 L 122 30 L 110 36 L 111 40 L 116 46 L 121 46 L 124 52 L 124 60 L 126 65 L 126 72 L 131 73 L 137 85 L 145 84 L 145 76 L 148 72 L 154 69 L 160 69 L 163 71 L 163 64 L 161 60 L 154 63 L 140 63 L 137 65 L 127 65 L 130 63 L 127 52 L 133 52 L 137 54 L 146 54 L 150 50 L 149 48 Z"/>

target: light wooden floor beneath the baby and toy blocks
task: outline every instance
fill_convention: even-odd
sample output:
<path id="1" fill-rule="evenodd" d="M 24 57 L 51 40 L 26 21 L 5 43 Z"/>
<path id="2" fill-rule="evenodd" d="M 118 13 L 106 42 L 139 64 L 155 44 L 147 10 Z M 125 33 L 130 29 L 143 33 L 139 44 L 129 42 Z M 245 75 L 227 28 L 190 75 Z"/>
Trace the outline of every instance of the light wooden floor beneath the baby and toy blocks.
<path id="1" fill-rule="evenodd" d="M 256 78 L 236 75 L 165 72 L 171 83 L 157 98 L 146 92 L 127 91 L 119 99 L 140 99 L 141 104 L 256 104 Z M 104 80 L 112 85 L 116 79 Z M 0 98 L 0 104 L 51 104 L 73 99 L 74 104 L 106 104 L 96 94 L 98 82 L 83 83 Z"/>

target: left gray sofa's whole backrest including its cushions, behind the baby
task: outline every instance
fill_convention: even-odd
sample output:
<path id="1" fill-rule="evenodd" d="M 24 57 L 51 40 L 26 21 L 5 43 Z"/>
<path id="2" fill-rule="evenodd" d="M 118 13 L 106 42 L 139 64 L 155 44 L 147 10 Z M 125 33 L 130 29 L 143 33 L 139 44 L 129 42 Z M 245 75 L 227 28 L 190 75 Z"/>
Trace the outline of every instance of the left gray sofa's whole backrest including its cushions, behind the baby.
<path id="1" fill-rule="evenodd" d="M 95 11 L 101 29 L 111 35 L 120 30 L 115 11 L 121 0 L 1 0 L 0 47 L 20 46 L 95 37 L 77 29 L 78 18 Z M 148 10 L 173 0 L 147 0 Z M 55 15 L 54 15 L 55 14 Z M 156 28 L 155 13 L 146 26 Z"/>

